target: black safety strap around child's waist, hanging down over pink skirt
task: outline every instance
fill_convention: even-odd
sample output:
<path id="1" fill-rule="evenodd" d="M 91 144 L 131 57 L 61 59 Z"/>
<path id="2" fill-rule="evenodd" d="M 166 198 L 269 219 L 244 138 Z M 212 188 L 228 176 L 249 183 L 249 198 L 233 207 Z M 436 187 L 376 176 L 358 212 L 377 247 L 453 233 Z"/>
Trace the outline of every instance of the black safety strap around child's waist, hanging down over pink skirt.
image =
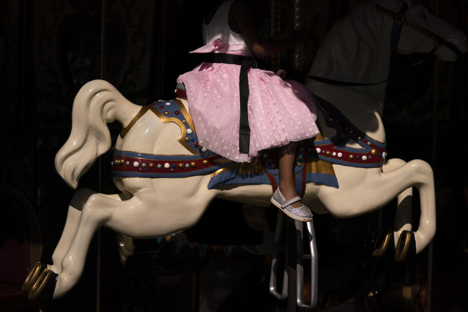
<path id="1" fill-rule="evenodd" d="M 250 126 L 247 103 L 249 101 L 249 78 L 247 70 L 256 65 L 253 58 L 243 57 L 225 53 L 206 53 L 204 61 L 207 63 L 225 63 L 240 65 L 239 73 L 239 97 L 240 97 L 240 120 L 239 120 L 239 152 L 249 154 L 250 150 Z"/>

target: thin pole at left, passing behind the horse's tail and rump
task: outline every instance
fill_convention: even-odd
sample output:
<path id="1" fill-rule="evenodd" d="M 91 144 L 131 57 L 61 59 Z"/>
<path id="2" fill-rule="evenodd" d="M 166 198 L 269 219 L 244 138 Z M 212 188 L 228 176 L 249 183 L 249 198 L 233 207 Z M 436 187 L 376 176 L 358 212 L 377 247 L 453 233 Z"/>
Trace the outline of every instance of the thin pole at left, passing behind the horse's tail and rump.
<path id="1" fill-rule="evenodd" d="M 99 78 L 106 78 L 106 0 L 101 0 L 101 45 Z M 98 190 L 102 193 L 102 156 L 99 157 Z M 101 304 L 101 229 L 98 230 L 98 255 L 96 260 L 96 312 Z"/>

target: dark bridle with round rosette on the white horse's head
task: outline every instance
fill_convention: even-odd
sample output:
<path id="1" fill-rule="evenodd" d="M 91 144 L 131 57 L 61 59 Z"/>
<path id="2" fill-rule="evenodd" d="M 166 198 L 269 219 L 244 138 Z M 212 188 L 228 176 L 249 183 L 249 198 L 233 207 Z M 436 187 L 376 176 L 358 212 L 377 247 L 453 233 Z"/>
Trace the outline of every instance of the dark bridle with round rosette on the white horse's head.
<path id="1" fill-rule="evenodd" d="M 391 35 L 390 35 L 391 51 L 396 51 L 398 42 L 400 41 L 400 36 L 401 36 L 401 31 L 403 29 L 403 26 L 407 26 L 415 31 L 420 32 L 424 36 L 434 40 L 434 47 L 427 54 L 433 54 L 437 50 L 438 47 L 443 46 L 443 45 L 447 46 L 448 49 L 452 50 L 457 55 L 462 53 L 453 43 L 447 42 L 447 39 L 440 37 L 439 35 L 431 32 L 429 29 L 421 25 L 418 25 L 412 20 L 408 20 L 405 14 L 408 11 L 409 7 L 406 2 L 403 2 L 403 5 L 401 6 L 400 10 L 398 10 L 397 13 L 384 8 L 383 6 L 379 4 L 376 4 L 375 6 L 377 10 L 393 18 L 393 27 L 391 28 Z"/>

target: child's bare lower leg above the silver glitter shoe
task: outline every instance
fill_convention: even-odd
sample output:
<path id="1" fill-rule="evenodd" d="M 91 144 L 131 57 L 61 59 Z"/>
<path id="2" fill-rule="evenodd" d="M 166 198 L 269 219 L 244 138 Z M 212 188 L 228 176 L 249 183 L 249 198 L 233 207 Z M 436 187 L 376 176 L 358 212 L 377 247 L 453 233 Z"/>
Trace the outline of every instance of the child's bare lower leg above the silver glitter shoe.
<path id="1" fill-rule="evenodd" d="M 296 142 L 290 142 L 278 148 L 279 165 L 279 190 L 284 198 L 291 199 L 297 196 L 294 189 L 293 166 L 296 154 Z M 291 204 L 293 208 L 302 206 L 300 201 Z"/>

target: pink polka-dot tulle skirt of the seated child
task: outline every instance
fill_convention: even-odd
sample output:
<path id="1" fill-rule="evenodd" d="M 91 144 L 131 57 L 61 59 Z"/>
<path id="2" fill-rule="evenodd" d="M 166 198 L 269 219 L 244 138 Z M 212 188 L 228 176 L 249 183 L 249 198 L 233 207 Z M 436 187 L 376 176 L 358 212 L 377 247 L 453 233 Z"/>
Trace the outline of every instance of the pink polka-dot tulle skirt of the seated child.
<path id="1" fill-rule="evenodd" d="M 314 99 L 302 84 L 250 68 L 250 151 L 248 155 L 239 153 L 239 71 L 239 65 L 202 63 L 177 79 L 185 85 L 200 145 L 244 162 L 258 156 L 261 150 L 319 133 Z"/>

